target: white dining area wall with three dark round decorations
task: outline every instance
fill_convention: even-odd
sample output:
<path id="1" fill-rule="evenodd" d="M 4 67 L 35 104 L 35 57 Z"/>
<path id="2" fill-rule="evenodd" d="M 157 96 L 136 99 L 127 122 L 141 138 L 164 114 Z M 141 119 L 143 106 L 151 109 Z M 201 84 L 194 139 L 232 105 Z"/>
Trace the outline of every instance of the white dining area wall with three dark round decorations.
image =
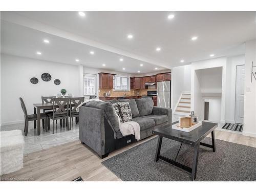
<path id="1" fill-rule="evenodd" d="M 49 82 L 41 79 L 50 73 Z M 24 99 L 28 114 L 33 114 L 33 103 L 41 103 L 41 96 L 52 96 L 66 89 L 73 96 L 80 95 L 78 66 L 1 54 L 1 125 L 24 121 L 19 97 Z M 30 78 L 39 82 L 32 84 Z M 56 86 L 54 79 L 60 79 Z"/>

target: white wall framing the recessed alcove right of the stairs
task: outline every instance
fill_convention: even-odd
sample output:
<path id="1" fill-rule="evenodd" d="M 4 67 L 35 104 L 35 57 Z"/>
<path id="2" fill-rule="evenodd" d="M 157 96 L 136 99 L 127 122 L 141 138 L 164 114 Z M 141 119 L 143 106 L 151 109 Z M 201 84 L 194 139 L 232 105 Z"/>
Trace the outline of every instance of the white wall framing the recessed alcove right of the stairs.
<path id="1" fill-rule="evenodd" d="M 226 62 L 226 57 L 220 57 L 197 61 L 191 64 L 191 111 L 195 111 L 199 119 L 204 119 L 204 100 L 201 94 L 201 70 L 222 67 L 221 122 L 225 122 Z"/>

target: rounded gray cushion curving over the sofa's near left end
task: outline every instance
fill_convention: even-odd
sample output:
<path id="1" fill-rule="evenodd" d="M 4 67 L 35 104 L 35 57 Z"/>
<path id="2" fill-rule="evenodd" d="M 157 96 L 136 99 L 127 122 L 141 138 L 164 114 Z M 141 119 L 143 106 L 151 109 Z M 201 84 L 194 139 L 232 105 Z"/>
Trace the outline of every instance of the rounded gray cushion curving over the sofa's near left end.
<path id="1" fill-rule="evenodd" d="M 110 102 L 90 101 L 90 102 L 86 103 L 85 105 L 88 106 L 89 108 L 96 108 L 96 109 L 103 110 L 105 112 L 106 116 L 108 116 L 108 118 L 113 126 L 113 129 L 116 132 L 119 130 L 120 121 L 119 121 L 118 116 L 116 115 L 114 108 Z"/>

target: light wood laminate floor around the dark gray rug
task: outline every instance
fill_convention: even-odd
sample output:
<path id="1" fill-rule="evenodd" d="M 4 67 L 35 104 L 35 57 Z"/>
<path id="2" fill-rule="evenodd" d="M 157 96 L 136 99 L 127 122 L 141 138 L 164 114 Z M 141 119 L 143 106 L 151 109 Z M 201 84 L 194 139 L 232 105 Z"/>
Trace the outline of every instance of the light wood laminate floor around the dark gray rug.
<path id="1" fill-rule="evenodd" d="M 126 146 L 103 160 L 154 137 L 156 136 Z M 216 139 L 256 147 L 256 138 L 237 133 L 216 130 Z M 25 155 L 24 167 L 1 176 L 1 180 L 71 181 L 81 176 L 84 181 L 121 181 L 101 164 L 103 160 L 77 140 Z"/>

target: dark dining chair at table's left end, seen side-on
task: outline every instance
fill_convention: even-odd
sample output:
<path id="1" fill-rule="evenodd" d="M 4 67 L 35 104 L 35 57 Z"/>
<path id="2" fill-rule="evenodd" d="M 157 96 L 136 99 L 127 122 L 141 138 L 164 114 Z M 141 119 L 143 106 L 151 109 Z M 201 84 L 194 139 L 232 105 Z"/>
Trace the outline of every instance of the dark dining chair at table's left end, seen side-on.
<path id="1" fill-rule="evenodd" d="M 29 129 L 29 121 L 36 121 L 37 115 L 31 114 L 28 115 L 26 105 L 21 97 L 19 97 L 20 104 L 22 105 L 22 111 L 24 113 L 25 117 L 25 126 L 24 126 L 24 132 L 25 136 L 28 135 L 28 129 Z M 47 132 L 47 116 L 45 113 L 40 113 L 40 119 L 42 120 L 42 125 L 45 127 L 45 131 Z M 37 127 L 37 129 L 40 129 L 40 127 Z"/>

